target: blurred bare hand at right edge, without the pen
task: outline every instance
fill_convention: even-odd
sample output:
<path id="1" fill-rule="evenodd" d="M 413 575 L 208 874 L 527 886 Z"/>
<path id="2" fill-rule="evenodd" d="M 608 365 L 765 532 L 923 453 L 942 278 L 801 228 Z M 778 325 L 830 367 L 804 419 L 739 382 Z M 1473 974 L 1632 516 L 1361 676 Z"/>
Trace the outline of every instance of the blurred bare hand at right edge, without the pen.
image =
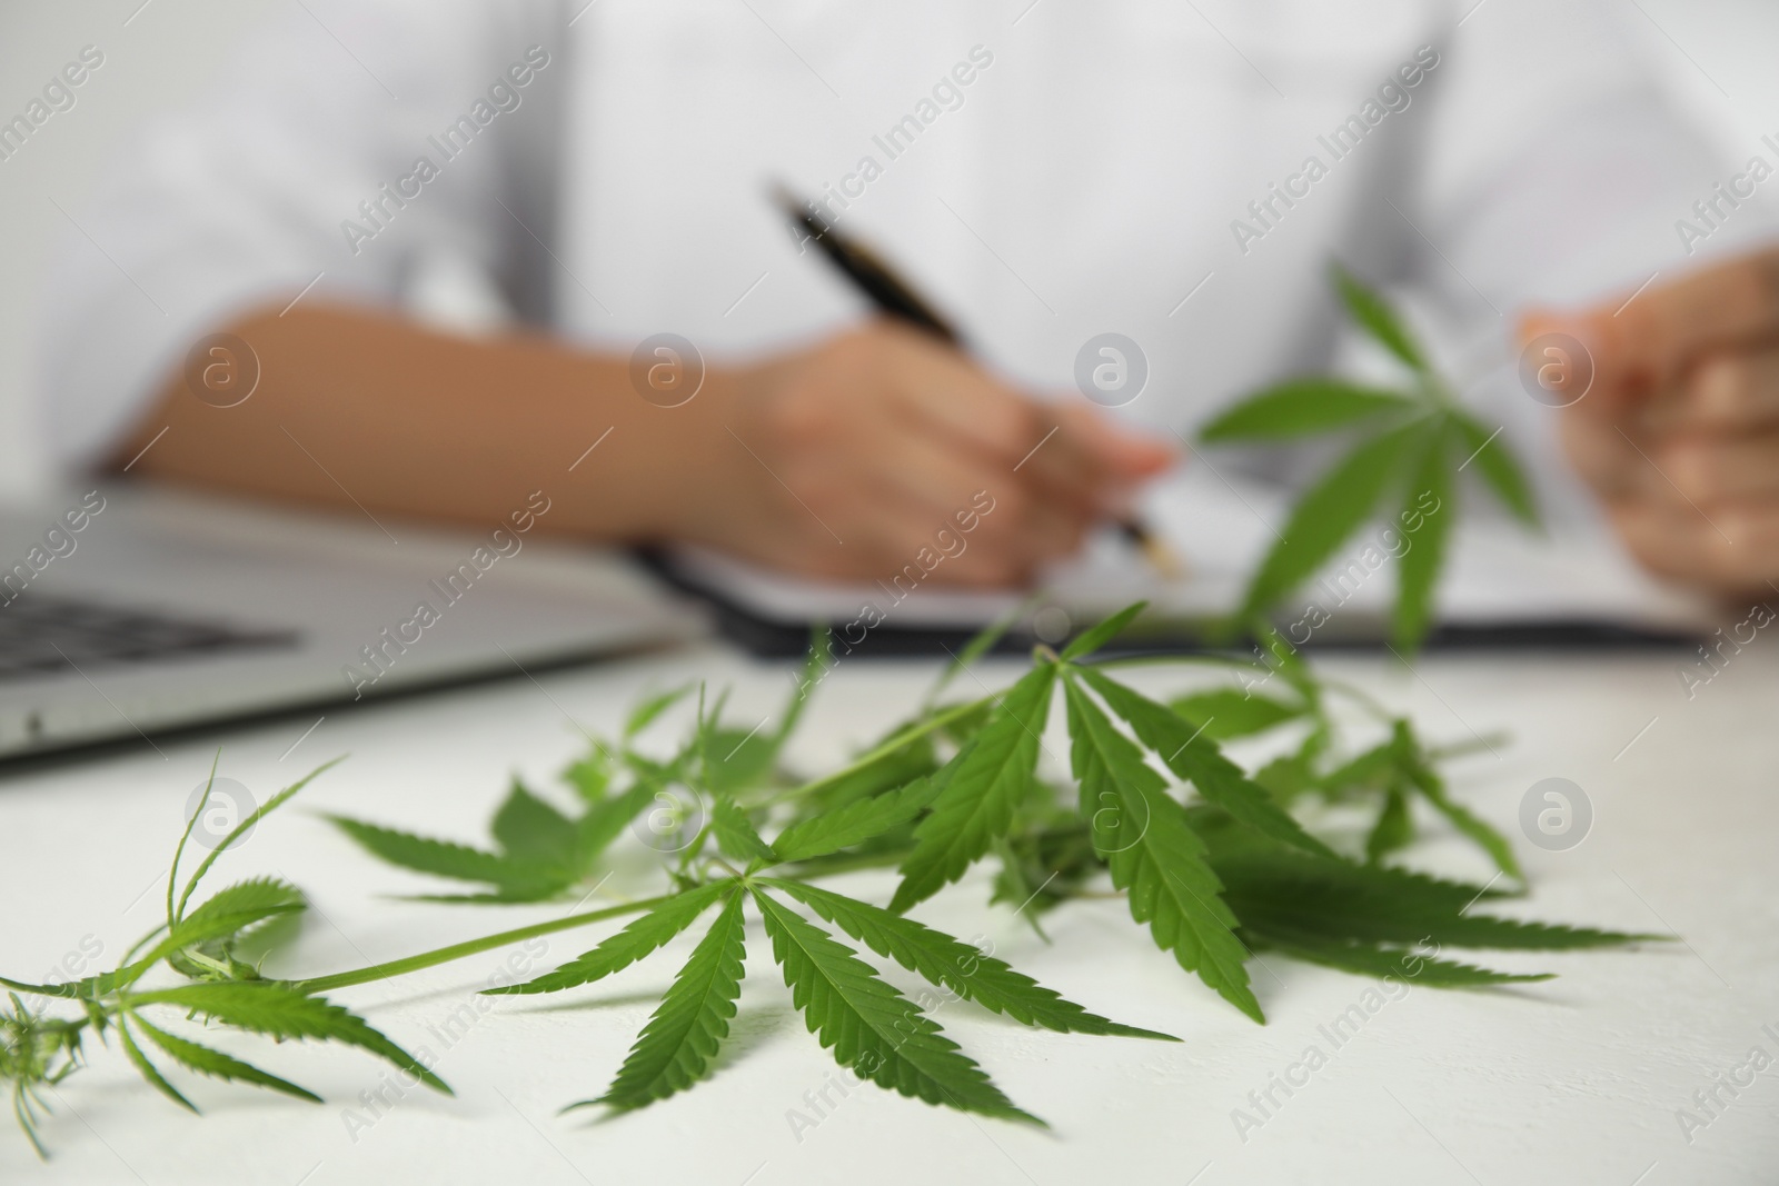
<path id="1" fill-rule="evenodd" d="M 1621 308 L 1622 306 L 1622 308 Z M 1576 315 L 1535 313 L 1530 343 L 1567 334 L 1553 391 L 1569 459 L 1649 571 L 1724 597 L 1779 583 L 1779 251 L 1743 256 Z M 1567 368 L 1567 370 L 1566 370 Z M 1569 393 L 1573 398 L 1573 391 Z"/>

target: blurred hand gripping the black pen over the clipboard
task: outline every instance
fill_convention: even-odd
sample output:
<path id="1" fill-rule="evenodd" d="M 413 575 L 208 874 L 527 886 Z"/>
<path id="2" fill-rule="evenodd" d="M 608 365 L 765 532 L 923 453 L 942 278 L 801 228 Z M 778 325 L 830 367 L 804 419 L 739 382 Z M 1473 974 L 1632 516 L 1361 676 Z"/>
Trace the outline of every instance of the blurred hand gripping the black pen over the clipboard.
<path id="1" fill-rule="evenodd" d="M 1176 461 L 882 322 L 740 373 L 728 430 L 706 542 L 836 580 L 1018 585 Z"/>

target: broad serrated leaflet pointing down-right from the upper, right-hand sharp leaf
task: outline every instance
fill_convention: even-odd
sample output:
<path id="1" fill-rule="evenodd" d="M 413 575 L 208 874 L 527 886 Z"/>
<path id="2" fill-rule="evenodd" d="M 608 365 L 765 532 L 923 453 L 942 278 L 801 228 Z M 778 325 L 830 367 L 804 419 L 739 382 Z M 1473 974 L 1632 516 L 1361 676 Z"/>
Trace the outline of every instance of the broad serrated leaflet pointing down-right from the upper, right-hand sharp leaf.
<path id="1" fill-rule="evenodd" d="M 1105 857 L 1112 884 L 1128 891 L 1130 916 L 1147 923 L 1156 946 L 1172 951 L 1181 967 L 1265 1022 L 1244 966 L 1247 950 L 1235 937 L 1235 914 L 1204 861 L 1204 843 L 1142 750 L 1112 727 L 1073 679 L 1062 690 L 1082 814 L 1092 825 L 1094 848 Z"/>

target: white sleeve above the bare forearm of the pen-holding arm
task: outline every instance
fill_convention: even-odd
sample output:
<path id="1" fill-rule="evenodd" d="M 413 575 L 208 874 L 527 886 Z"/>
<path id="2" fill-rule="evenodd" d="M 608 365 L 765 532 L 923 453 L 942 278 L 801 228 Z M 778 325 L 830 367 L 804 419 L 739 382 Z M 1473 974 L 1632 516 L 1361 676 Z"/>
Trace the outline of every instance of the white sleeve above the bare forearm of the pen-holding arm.
<path id="1" fill-rule="evenodd" d="M 439 245 L 518 284 L 548 235 L 559 25 L 543 0 L 306 0 L 244 39 L 66 212 L 37 359 L 59 468 L 117 450 L 199 336 L 306 286 L 390 304 Z"/>

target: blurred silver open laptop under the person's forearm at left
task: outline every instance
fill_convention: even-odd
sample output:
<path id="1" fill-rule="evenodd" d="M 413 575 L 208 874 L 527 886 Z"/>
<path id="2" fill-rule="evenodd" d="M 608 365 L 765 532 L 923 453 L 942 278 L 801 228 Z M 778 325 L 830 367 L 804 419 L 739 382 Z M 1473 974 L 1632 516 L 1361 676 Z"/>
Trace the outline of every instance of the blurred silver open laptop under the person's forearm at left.
<path id="1" fill-rule="evenodd" d="M 537 498 L 480 532 L 137 485 L 9 507 L 0 759 L 320 717 L 706 631 L 623 553 L 548 539 Z"/>

